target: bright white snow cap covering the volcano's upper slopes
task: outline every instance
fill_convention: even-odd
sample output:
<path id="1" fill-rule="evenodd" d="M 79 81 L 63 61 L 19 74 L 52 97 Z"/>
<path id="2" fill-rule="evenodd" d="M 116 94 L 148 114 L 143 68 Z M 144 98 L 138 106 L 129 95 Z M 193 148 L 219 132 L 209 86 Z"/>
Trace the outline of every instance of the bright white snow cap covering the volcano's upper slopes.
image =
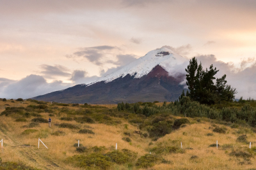
<path id="1" fill-rule="evenodd" d="M 127 74 L 130 74 L 131 76 L 136 74 L 134 78 L 141 78 L 142 76 L 147 75 L 150 71 L 152 71 L 152 69 L 157 65 L 163 67 L 166 71 L 168 71 L 170 75 L 173 75 L 177 73 L 175 70 L 177 69 L 177 66 L 182 65 L 187 61 L 187 59 L 173 52 L 169 48 L 162 47 L 148 52 L 145 56 L 134 60 L 134 62 L 127 64 L 118 71 L 108 74 L 107 76 L 104 76 L 103 78 L 100 78 L 99 80 L 90 83 L 89 85 L 99 81 L 108 83 L 115 80 L 116 78 L 120 78 L 121 76 L 124 77 Z"/>

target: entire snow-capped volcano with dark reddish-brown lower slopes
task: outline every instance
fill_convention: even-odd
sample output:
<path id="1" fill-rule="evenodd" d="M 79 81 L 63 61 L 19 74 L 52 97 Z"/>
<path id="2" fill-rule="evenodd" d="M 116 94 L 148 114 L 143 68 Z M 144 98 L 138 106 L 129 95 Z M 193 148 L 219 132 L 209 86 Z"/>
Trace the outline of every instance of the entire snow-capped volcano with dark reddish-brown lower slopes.
<path id="1" fill-rule="evenodd" d="M 169 48 L 157 48 L 93 83 L 75 85 L 33 99 L 90 104 L 174 101 L 184 89 L 181 82 L 186 76 L 179 73 L 179 66 L 187 61 Z"/>

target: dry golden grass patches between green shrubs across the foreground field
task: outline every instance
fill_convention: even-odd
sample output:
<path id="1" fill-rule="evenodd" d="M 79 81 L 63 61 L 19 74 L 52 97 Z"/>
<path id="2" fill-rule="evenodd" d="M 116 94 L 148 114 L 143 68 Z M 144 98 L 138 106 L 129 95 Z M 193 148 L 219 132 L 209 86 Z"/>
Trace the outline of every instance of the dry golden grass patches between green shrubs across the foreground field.
<path id="1" fill-rule="evenodd" d="M 6 102 L 9 104 L 10 102 Z M 29 102 L 26 102 L 30 104 Z M 10 103 L 11 105 L 12 103 Z M 27 106 L 28 104 L 24 104 Z M 163 103 L 157 103 L 163 104 Z M 0 101 L 0 106 L 3 106 L 3 101 Z M 113 105 L 103 105 L 108 108 L 115 107 Z M 74 108 L 75 107 L 68 107 Z M 0 110 L 0 112 L 3 110 Z M 43 118 L 49 118 L 49 113 L 41 113 Z M 28 125 L 33 118 L 27 118 L 28 122 L 14 122 L 13 117 L 0 117 L 0 140 L 4 139 L 4 152 L 0 152 L 0 157 L 3 161 L 18 160 L 25 162 L 28 166 L 38 167 L 40 169 L 79 169 L 67 164 L 65 160 L 68 157 L 76 155 L 76 148 L 73 146 L 77 143 L 77 139 L 83 146 L 106 146 L 106 148 L 115 148 L 115 144 L 118 143 L 118 150 L 123 148 L 138 152 L 138 157 L 148 153 L 149 148 L 154 146 L 176 145 L 186 150 L 185 153 L 168 153 L 161 155 L 166 160 L 171 160 L 171 164 L 157 164 L 153 169 L 252 169 L 256 167 L 255 157 L 250 162 L 252 164 L 240 165 L 239 162 L 243 162 L 242 158 L 230 156 L 231 148 L 224 150 L 221 146 L 228 144 L 232 145 L 236 150 L 247 150 L 249 145 L 244 143 L 237 143 L 236 139 L 241 134 L 238 134 L 239 129 L 227 128 L 226 134 L 219 134 L 212 132 L 212 124 L 207 118 L 203 118 L 202 122 L 196 122 L 196 118 L 188 118 L 191 124 L 186 127 L 182 127 L 177 131 L 173 131 L 171 134 L 159 138 L 154 141 L 153 145 L 148 146 L 151 142 L 150 138 L 141 138 L 137 134 L 132 134 L 133 131 L 138 131 L 138 127 L 129 124 L 125 119 L 122 120 L 122 124 L 119 125 L 105 125 L 105 124 L 78 124 L 75 121 L 62 121 L 60 117 L 65 115 L 64 113 L 59 117 L 52 117 L 52 127 L 49 128 L 48 124 L 40 124 L 40 127 L 33 127 L 30 129 L 36 129 L 37 132 L 22 135 L 22 132 L 28 128 L 21 128 L 23 125 Z M 179 117 L 176 117 L 179 118 Z M 95 134 L 79 134 L 79 130 L 71 130 L 66 128 L 60 128 L 54 124 L 67 122 L 70 124 L 76 124 L 81 129 L 86 126 L 92 127 L 91 130 Z M 125 124 L 128 124 L 128 128 L 125 129 Z M 223 125 L 218 125 L 222 127 Z M 209 129 L 210 127 L 210 129 Z M 55 131 L 65 132 L 65 136 L 52 136 L 51 133 Z M 124 132 L 130 132 L 132 142 L 127 143 L 122 138 L 125 137 Z M 208 133 L 213 133 L 214 136 L 206 136 Z M 252 146 L 256 146 L 255 133 L 247 131 L 248 141 L 252 141 Z M 40 149 L 38 149 L 38 137 L 41 136 L 42 141 L 49 148 L 45 148 L 40 143 Z M 216 143 L 220 147 L 209 147 L 209 145 Z M 175 141 L 175 142 L 173 142 Z M 24 146 L 29 145 L 29 146 Z M 186 148 L 193 148 L 188 150 Z M 154 153 L 152 153 L 154 154 Z M 193 155 L 198 158 L 191 159 Z M 58 166 L 56 166 L 58 165 Z M 111 169 L 127 169 L 125 166 L 114 165 Z M 133 167 L 136 169 L 136 167 Z"/>

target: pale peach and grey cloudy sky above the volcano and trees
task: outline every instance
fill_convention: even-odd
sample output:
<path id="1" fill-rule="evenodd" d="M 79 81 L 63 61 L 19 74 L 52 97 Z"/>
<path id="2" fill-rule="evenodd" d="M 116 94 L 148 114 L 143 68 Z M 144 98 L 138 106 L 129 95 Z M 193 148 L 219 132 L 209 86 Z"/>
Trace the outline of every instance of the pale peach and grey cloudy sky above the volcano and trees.
<path id="1" fill-rule="evenodd" d="M 90 83 L 170 46 L 256 99 L 254 0 L 0 0 L 0 97 Z"/>

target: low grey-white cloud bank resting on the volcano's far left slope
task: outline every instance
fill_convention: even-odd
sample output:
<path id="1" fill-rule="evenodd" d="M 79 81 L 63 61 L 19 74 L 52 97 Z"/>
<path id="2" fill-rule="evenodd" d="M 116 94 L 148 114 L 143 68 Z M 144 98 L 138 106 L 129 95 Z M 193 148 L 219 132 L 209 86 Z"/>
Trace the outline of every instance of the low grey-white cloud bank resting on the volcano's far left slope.
<path id="1" fill-rule="evenodd" d="M 35 97 L 42 94 L 47 94 L 56 90 L 66 89 L 71 87 L 71 84 L 63 83 L 62 81 L 52 81 L 47 83 L 43 76 L 31 74 L 22 78 L 19 81 L 12 81 L 5 85 L 0 92 L 1 97 L 17 99 L 22 97 L 27 99 L 29 97 Z"/>

